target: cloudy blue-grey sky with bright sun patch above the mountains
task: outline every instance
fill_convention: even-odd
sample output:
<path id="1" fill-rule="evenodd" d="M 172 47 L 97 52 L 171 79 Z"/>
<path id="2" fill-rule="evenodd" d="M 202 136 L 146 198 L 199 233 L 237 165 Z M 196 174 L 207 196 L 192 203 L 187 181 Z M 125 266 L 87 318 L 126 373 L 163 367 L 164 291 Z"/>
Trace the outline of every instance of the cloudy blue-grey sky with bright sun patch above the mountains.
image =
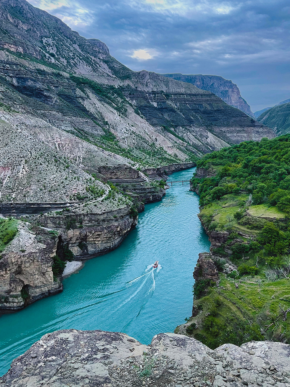
<path id="1" fill-rule="evenodd" d="M 289 0 L 29 0 L 132 70 L 231 79 L 252 111 L 290 98 Z"/>

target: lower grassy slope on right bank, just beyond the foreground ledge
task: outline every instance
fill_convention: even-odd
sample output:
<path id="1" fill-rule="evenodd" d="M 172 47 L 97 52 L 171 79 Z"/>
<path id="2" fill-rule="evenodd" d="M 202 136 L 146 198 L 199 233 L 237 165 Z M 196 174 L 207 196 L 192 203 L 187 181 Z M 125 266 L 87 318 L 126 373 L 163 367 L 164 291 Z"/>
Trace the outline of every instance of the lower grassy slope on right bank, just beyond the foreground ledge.
<path id="1" fill-rule="evenodd" d="M 290 314 L 286 321 L 280 314 L 280 307 L 290 307 L 289 280 L 268 281 L 259 275 L 232 279 L 222 274 L 220 278 L 218 288 L 210 288 L 206 296 L 194 300 L 202 312 L 190 320 L 196 327 L 189 325 L 188 335 L 212 349 L 227 342 L 241 345 L 264 339 L 290 344 Z"/>

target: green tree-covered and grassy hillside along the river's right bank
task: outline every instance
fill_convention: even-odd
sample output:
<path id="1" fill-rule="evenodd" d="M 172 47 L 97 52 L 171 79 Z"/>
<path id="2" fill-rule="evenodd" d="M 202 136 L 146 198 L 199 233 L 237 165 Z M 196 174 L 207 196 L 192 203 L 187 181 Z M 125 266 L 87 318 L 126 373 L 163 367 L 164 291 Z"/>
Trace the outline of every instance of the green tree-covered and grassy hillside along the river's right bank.
<path id="1" fill-rule="evenodd" d="M 290 135 L 205 155 L 193 177 L 218 283 L 194 285 L 196 316 L 183 327 L 211 348 L 290 343 Z"/>

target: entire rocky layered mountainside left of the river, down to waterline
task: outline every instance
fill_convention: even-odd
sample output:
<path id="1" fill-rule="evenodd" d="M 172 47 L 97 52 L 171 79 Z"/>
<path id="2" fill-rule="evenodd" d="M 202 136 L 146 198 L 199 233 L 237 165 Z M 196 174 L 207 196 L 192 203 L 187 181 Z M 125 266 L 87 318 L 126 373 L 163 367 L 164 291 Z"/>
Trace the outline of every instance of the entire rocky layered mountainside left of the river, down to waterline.
<path id="1" fill-rule="evenodd" d="M 116 248 L 167 172 L 274 136 L 210 91 L 134 72 L 98 39 L 0 0 L 0 309 L 61 291 L 64 260 Z"/>

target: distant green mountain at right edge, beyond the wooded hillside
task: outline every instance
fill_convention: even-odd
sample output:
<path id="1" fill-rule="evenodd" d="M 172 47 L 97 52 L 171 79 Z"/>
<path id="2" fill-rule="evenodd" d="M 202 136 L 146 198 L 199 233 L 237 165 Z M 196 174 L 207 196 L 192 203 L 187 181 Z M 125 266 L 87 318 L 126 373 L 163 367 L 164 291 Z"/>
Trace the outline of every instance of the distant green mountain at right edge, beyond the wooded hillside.
<path id="1" fill-rule="evenodd" d="M 290 133 L 290 102 L 278 104 L 264 111 L 258 117 L 258 121 L 272 128 L 277 135 Z"/>

